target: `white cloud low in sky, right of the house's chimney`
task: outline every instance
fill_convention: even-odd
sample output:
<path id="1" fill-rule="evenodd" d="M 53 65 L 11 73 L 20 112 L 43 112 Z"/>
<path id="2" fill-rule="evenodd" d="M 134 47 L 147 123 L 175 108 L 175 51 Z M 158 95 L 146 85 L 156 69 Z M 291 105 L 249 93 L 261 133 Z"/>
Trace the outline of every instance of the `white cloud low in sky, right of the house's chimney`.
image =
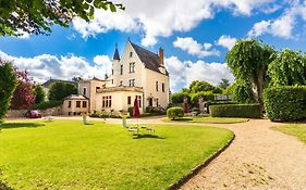
<path id="1" fill-rule="evenodd" d="M 170 73 L 170 88 L 172 91 L 179 91 L 194 80 L 206 80 L 213 85 L 218 85 L 222 78 L 227 78 L 231 83 L 234 81 L 234 76 L 225 63 L 182 62 L 176 56 L 166 59 L 164 63 Z"/>

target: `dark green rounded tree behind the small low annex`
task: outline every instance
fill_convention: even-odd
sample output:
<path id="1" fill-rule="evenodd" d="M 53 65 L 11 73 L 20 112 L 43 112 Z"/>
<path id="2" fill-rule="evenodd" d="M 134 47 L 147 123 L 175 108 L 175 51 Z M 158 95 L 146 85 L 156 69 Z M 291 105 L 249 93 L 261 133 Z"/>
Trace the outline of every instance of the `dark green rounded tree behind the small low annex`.
<path id="1" fill-rule="evenodd" d="M 58 81 L 50 86 L 49 100 L 63 100 L 65 97 L 76 94 L 77 88 L 75 85 Z"/>

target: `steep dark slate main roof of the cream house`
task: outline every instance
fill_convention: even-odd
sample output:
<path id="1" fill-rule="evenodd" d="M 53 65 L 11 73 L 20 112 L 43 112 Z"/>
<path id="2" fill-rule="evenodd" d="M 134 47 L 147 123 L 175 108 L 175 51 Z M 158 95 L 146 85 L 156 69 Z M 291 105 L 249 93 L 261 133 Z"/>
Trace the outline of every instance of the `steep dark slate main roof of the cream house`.
<path id="1" fill-rule="evenodd" d="M 140 61 L 145 64 L 146 68 L 149 68 L 149 69 L 152 69 L 155 72 L 161 73 L 158 67 L 164 68 L 164 66 L 160 65 L 158 54 L 156 54 L 151 51 L 148 51 L 148 50 L 146 50 L 146 49 L 133 43 L 133 42 L 131 42 L 131 45 L 132 45 L 133 49 L 136 51 Z M 169 73 L 167 72 L 166 68 L 164 68 L 164 71 L 166 71 L 166 75 L 169 75 Z"/>

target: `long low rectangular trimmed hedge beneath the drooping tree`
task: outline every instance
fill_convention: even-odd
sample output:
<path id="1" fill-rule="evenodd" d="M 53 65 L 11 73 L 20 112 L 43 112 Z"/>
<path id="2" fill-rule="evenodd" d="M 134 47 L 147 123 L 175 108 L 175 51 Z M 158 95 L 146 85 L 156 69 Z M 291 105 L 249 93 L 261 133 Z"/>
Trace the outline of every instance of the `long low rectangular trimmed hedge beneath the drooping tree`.
<path id="1" fill-rule="evenodd" d="M 209 113 L 212 117 L 261 118 L 259 104 L 210 105 Z"/>

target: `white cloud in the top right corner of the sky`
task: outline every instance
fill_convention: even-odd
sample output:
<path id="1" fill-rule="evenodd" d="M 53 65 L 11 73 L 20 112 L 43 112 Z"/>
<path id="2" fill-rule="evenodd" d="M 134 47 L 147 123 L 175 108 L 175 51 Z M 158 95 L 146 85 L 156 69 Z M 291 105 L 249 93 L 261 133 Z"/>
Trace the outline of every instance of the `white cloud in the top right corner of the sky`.
<path id="1" fill-rule="evenodd" d="M 269 34 L 281 38 L 293 38 L 293 29 L 297 24 L 297 17 L 301 16 L 302 20 L 306 21 L 305 12 L 306 2 L 302 4 L 299 1 L 293 1 L 292 5 L 280 17 L 255 23 L 248 31 L 248 36 L 257 37 Z"/>

